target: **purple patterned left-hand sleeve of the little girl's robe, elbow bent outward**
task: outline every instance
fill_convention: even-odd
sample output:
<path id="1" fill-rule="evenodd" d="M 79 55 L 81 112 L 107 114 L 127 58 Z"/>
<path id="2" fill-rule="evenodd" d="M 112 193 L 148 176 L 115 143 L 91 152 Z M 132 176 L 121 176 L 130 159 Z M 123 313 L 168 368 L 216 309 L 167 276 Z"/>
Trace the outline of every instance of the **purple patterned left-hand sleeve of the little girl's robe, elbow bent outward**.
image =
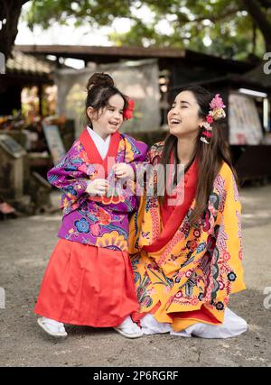
<path id="1" fill-rule="evenodd" d="M 61 207 L 72 206 L 84 196 L 89 176 L 84 172 L 85 162 L 79 142 L 75 142 L 61 162 L 47 173 L 52 186 L 61 190 Z M 85 194 L 87 197 L 87 194 Z"/>

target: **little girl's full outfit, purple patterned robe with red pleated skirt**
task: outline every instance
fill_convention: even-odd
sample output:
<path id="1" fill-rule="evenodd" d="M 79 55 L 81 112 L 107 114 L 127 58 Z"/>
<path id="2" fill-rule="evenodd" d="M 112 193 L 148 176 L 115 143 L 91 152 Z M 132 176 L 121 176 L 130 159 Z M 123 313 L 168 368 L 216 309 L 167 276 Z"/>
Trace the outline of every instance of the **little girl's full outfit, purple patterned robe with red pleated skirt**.
<path id="1" fill-rule="evenodd" d="M 63 219 L 36 314 L 64 324 L 110 327 L 138 309 L 127 252 L 129 215 L 137 199 L 131 183 L 115 183 L 112 166 L 126 162 L 135 168 L 146 152 L 145 143 L 126 134 L 103 141 L 87 127 L 48 172 L 51 185 L 62 192 Z M 88 180 L 97 178 L 108 180 L 104 197 L 86 193 Z"/>

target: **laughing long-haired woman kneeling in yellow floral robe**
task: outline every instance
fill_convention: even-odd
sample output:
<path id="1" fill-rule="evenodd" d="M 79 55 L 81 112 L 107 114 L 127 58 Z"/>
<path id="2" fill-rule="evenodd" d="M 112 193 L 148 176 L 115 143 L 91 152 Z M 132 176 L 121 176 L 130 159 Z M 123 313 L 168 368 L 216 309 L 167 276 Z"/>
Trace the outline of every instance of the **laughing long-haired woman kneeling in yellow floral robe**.
<path id="1" fill-rule="evenodd" d="M 173 194 L 146 190 L 130 222 L 140 302 L 133 319 L 141 319 L 145 334 L 227 338 L 248 329 L 227 307 L 245 284 L 236 173 L 219 124 L 224 108 L 202 87 L 183 89 L 168 113 L 169 135 L 148 153 L 153 166 L 169 165 L 170 172 L 163 180 L 157 172 L 146 187 L 168 179 Z"/>

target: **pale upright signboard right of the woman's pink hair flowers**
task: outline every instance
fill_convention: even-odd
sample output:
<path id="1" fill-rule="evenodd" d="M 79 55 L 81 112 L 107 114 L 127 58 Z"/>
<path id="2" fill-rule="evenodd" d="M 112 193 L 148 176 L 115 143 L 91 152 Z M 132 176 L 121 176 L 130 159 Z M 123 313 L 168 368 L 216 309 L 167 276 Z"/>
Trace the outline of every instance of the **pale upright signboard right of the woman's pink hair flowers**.
<path id="1" fill-rule="evenodd" d="M 263 131 L 252 97 L 229 94 L 229 144 L 259 144 Z"/>

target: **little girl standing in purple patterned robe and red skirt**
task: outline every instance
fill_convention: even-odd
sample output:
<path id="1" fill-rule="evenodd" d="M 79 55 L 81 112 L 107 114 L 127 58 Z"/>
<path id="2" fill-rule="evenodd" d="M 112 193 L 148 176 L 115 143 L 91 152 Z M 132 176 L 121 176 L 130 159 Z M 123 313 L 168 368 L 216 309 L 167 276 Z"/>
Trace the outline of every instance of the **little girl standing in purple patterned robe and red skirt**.
<path id="1" fill-rule="evenodd" d="M 67 335 L 63 324 L 73 324 L 113 326 L 135 338 L 142 331 L 130 317 L 138 302 L 127 252 L 128 216 L 136 208 L 135 164 L 145 160 L 147 146 L 118 133 L 132 117 L 133 101 L 112 78 L 96 73 L 87 89 L 88 126 L 48 172 L 61 189 L 63 219 L 34 312 L 42 316 L 42 329 L 56 337 Z"/>

